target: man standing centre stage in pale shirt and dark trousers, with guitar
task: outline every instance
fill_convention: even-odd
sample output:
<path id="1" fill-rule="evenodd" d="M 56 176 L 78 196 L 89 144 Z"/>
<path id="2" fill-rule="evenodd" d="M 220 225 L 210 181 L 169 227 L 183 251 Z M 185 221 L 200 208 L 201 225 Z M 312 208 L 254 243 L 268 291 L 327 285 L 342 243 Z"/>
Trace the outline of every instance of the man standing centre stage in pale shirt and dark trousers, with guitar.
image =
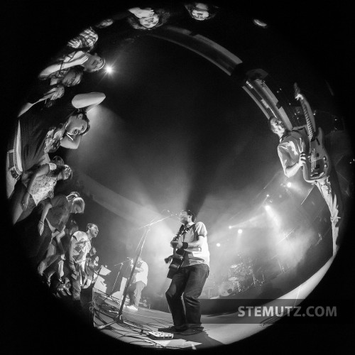
<path id="1" fill-rule="evenodd" d="M 173 255 L 165 259 L 167 263 L 170 261 L 168 278 L 171 278 L 165 296 L 174 325 L 158 330 L 192 335 L 203 330 L 198 297 L 209 274 L 207 229 L 202 222 L 195 223 L 195 213 L 189 209 L 181 211 L 179 218 L 182 226 L 170 242 Z"/>

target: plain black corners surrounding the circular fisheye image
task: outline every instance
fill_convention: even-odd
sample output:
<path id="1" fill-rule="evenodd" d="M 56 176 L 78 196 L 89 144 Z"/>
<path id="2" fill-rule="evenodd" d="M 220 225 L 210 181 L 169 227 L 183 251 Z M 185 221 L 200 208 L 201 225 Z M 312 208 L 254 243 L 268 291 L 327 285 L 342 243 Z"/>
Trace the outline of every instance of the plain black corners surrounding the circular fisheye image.
<path id="1" fill-rule="evenodd" d="M 141 1 L 142 2 L 142 1 Z M 222 4 L 215 1 L 215 4 Z M 1 98 L 2 107 L 1 152 L 6 146 L 6 136 L 13 126 L 18 100 L 26 94 L 35 75 L 40 71 L 41 58 L 49 58 L 70 38 L 71 33 L 109 17 L 120 9 L 127 9 L 127 1 L 5 1 L 1 5 Z M 136 5 L 135 3 L 133 5 Z M 282 6 L 275 1 L 261 6 L 254 1 L 248 4 L 228 5 L 233 11 L 265 19 L 274 28 L 280 28 L 290 43 L 302 46 L 310 61 L 324 72 L 336 96 L 334 97 L 351 130 L 353 102 L 351 85 L 354 82 L 353 35 L 354 26 L 350 5 L 322 3 L 305 7 L 297 2 L 285 1 Z M 4 192 L 1 191 L 4 198 Z M 5 200 L 5 199 L 4 199 Z M 122 344 L 94 329 L 68 318 L 65 311 L 53 304 L 37 285 L 30 273 L 26 259 L 21 257 L 18 246 L 11 240 L 9 218 L 4 204 L 4 244 L 1 265 L 1 349 L 6 352 L 53 350 L 63 351 L 131 351 Z M 354 284 L 353 251 L 351 238 L 354 222 L 349 224 L 348 236 L 326 277 L 312 292 L 315 300 L 329 298 L 349 304 L 348 324 L 276 324 L 255 336 L 226 346 L 226 351 L 250 353 L 278 353 L 287 351 L 339 352 L 354 346 Z M 43 292 L 42 292 L 43 291 Z M 68 320 L 69 319 L 69 320 Z M 139 350 L 139 349 L 138 349 Z M 149 351 L 144 349 L 144 351 Z"/>

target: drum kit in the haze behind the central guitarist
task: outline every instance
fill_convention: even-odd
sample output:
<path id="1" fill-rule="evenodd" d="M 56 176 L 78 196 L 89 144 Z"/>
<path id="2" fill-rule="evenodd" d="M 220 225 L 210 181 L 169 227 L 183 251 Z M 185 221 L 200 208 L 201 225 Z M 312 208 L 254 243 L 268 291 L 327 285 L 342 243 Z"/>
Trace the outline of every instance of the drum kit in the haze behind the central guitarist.
<path id="1" fill-rule="evenodd" d="M 251 258 L 240 253 L 237 254 L 236 263 L 229 266 L 222 281 L 222 284 L 219 285 L 219 296 L 221 297 L 236 295 L 263 283 L 255 277 Z"/>

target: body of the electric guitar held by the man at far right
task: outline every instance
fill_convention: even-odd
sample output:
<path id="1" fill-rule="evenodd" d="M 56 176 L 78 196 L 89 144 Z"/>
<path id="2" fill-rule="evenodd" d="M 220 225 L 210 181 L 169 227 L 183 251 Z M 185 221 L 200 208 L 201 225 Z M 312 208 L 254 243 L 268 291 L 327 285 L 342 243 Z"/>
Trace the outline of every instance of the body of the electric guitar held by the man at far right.
<path id="1" fill-rule="evenodd" d="M 303 178 L 307 182 L 325 180 L 332 168 L 331 160 L 324 148 L 324 135 L 322 129 L 318 129 L 317 136 L 310 141 L 310 151 L 306 164 L 303 166 Z"/>

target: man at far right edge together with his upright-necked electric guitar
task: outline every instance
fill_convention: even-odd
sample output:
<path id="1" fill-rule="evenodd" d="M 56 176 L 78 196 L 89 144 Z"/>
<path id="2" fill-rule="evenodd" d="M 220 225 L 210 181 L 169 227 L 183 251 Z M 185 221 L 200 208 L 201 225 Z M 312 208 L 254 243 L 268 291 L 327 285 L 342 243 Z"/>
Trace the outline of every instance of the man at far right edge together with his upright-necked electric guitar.
<path id="1" fill-rule="evenodd" d="M 322 129 L 316 129 L 310 104 L 295 84 L 295 99 L 300 101 L 307 124 L 289 130 L 281 119 L 269 119 L 271 131 L 280 138 L 278 156 L 285 175 L 290 178 L 302 169 L 303 178 L 317 186 L 327 203 L 332 222 L 333 255 L 337 252 L 339 222 L 342 218 L 342 192 L 337 172 L 324 147 Z"/>

